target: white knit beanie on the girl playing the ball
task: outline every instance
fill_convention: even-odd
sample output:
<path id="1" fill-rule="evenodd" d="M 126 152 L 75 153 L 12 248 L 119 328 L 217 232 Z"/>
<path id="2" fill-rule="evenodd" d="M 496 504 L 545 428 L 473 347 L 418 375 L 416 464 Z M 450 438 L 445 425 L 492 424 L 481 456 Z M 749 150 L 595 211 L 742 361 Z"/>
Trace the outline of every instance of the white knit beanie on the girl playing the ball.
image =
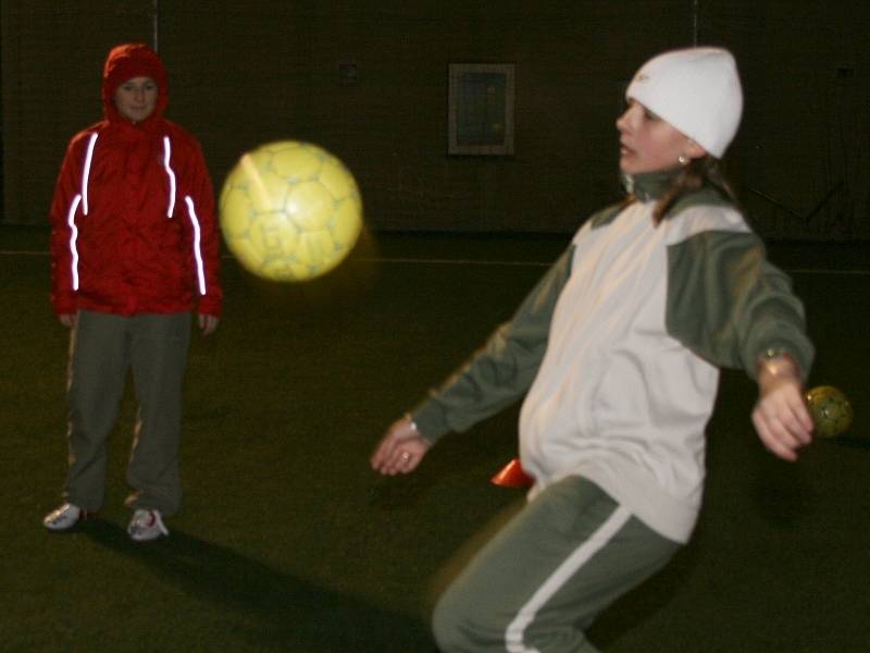
<path id="1" fill-rule="evenodd" d="M 743 93 L 734 57 L 721 48 L 688 48 L 654 57 L 625 91 L 721 159 L 737 132 Z"/>

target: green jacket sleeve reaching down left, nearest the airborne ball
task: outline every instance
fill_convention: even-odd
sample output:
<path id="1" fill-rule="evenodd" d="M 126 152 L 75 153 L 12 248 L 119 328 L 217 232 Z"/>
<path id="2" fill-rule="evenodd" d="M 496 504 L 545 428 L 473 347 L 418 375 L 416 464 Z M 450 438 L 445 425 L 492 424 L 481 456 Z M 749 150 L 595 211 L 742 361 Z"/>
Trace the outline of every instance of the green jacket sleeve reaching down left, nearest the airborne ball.
<path id="1" fill-rule="evenodd" d="M 413 410 L 413 420 L 426 440 L 435 442 L 450 431 L 465 431 L 525 394 L 544 358 L 550 319 L 571 272 L 573 250 L 569 247 L 513 318 Z"/>

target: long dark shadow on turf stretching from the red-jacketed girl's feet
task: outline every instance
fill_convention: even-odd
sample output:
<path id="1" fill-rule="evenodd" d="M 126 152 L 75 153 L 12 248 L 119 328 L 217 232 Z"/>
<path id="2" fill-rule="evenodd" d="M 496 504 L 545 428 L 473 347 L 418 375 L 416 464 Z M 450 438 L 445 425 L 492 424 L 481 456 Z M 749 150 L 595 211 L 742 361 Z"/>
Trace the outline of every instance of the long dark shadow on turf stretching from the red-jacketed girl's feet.
<path id="1" fill-rule="evenodd" d="M 89 521 L 83 532 L 139 560 L 164 582 L 231 608 L 238 619 L 226 628 L 249 646 L 304 653 L 435 651 L 422 619 L 319 588 L 227 546 L 178 530 L 136 543 L 108 521 Z M 222 645 L 232 648 L 232 642 Z"/>

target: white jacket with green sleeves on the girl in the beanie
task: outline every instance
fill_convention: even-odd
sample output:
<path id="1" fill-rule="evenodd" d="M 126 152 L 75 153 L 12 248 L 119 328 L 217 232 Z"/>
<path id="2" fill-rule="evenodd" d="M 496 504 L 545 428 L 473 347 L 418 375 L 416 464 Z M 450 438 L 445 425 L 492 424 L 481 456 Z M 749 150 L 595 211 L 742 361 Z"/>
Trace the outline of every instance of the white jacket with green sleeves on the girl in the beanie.
<path id="1" fill-rule="evenodd" d="M 434 442 L 527 393 L 520 457 L 536 479 L 530 497 L 583 476 L 685 542 L 719 367 L 754 378 L 761 353 L 776 348 L 806 377 L 813 349 L 788 278 L 731 204 L 705 188 L 657 226 L 667 175 L 633 182 L 638 199 L 593 215 L 513 319 L 413 418 Z"/>

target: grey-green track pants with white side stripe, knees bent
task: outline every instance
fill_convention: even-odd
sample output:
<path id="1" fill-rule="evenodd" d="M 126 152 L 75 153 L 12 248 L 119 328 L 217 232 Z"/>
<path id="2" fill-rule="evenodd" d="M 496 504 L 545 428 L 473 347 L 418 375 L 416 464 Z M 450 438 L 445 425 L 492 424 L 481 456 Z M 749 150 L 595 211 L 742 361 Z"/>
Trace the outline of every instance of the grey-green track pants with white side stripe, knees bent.
<path id="1" fill-rule="evenodd" d="M 679 550 L 594 483 L 564 479 L 473 558 L 435 608 L 449 653 L 596 651 L 584 630 Z"/>

